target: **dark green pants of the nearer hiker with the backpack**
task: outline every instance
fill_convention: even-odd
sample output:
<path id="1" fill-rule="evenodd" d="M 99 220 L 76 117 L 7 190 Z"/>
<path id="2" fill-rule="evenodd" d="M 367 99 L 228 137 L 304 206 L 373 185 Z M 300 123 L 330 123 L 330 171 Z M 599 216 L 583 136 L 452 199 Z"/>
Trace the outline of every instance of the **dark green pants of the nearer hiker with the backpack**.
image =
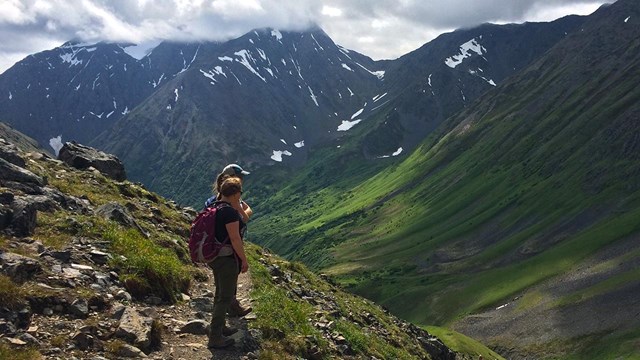
<path id="1" fill-rule="evenodd" d="M 221 256 L 209 263 L 209 266 L 213 269 L 216 286 L 209 337 L 216 338 L 222 336 L 227 309 L 235 297 L 238 283 L 238 263 L 233 255 Z"/>

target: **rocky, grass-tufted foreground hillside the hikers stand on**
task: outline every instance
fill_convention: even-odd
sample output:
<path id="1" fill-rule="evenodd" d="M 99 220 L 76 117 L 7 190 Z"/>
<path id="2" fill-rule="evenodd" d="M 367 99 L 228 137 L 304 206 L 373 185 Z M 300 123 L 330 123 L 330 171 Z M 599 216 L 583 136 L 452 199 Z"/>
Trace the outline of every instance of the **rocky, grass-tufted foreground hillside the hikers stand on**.
<path id="1" fill-rule="evenodd" d="M 194 212 L 142 186 L 78 170 L 2 126 L 0 359 L 209 359 L 204 326 L 212 276 L 185 237 Z M 24 149 L 27 150 L 27 149 Z M 249 244 L 233 318 L 236 345 L 216 358 L 499 357 L 479 344 L 455 354 L 440 340 Z M 454 335 L 455 337 L 456 335 Z"/>

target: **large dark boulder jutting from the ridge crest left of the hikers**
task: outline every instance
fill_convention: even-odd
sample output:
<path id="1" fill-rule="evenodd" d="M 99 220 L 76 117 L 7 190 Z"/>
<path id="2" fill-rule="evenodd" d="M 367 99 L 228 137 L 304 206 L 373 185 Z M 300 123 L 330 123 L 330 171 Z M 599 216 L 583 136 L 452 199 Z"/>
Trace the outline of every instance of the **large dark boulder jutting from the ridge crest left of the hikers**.
<path id="1" fill-rule="evenodd" d="M 80 170 L 94 167 L 105 176 L 117 181 L 127 179 L 124 165 L 116 156 L 76 142 L 65 143 L 58 153 L 58 159 Z"/>

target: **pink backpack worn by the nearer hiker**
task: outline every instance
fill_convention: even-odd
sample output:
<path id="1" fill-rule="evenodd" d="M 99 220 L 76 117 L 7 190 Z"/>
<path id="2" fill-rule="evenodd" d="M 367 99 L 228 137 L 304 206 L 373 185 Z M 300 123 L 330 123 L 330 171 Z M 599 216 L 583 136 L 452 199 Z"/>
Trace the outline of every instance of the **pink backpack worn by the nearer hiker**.
<path id="1" fill-rule="evenodd" d="M 194 263 L 209 263 L 220 255 L 222 248 L 231 248 L 229 237 L 222 242 L 216 239 L 216 213 L 225 206 L 229 205 L 214 204 L 202 210 L 191 223 L 189 254 Z"/>

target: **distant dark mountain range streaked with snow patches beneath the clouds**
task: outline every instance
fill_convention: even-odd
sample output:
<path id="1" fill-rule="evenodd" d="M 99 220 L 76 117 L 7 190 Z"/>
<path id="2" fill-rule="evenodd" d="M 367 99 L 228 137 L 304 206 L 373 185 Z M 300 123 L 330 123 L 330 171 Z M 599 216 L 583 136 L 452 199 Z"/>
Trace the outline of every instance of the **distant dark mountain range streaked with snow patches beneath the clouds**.
<path id="1" fill-rule="evenodd" d="M 0 117 L 54 151 L 116 153 L 132 179 L 195 205 L 229 162 L 301 166 L 351 137 L 369 159 L 406 154 L 582 21 L 487 24 L 377 62 L 319 28 L 164 42 L 140 59 L 131 44 L 69 42 L 0 75 Z"/>

